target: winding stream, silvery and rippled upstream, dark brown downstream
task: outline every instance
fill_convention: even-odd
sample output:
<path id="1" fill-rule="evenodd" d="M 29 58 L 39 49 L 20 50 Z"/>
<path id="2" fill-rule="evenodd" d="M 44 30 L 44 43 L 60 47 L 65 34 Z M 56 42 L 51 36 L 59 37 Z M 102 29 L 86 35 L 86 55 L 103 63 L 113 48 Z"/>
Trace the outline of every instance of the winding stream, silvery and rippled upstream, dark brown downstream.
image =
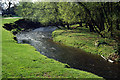
<path id="1" fill-rule="evenodd" d="M 41 54 L 57 61 L 67 63 L 71 68 L 87 71 L 107 78 L 119 78 L 120 64 L 112 64 L 98 55 L 86 53 L 80 49 L 53 42 L 51 32 L 33 30 L 16 35 L 18 43 L 28 43 Z"/>

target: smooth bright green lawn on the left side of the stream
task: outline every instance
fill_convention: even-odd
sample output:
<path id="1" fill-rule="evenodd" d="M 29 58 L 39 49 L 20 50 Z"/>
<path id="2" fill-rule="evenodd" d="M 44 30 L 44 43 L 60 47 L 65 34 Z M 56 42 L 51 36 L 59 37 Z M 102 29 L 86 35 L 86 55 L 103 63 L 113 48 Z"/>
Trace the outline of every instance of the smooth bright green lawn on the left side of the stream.
<path id="1" fill-rule="evenodd" d="M 18 19 L 3 19 L 3 23 Z M 2 28 L 3 78 L 101 78 L 92 73 L 72 68 L 49 59 L 28 44 L 18 44 L 10 31 Z"/>

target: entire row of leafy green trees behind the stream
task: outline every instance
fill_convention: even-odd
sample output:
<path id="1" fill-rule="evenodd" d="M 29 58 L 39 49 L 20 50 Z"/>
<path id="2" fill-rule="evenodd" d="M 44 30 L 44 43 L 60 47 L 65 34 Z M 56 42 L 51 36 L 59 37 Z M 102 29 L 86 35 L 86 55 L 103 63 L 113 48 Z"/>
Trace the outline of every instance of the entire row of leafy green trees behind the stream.
<path id="1" fill-rule="evenodd" d="M 91 32 L 111 37 L 120 30 L 120 2 L 22 2 L 16 12 L 43 25 L 85 23 Z"/>

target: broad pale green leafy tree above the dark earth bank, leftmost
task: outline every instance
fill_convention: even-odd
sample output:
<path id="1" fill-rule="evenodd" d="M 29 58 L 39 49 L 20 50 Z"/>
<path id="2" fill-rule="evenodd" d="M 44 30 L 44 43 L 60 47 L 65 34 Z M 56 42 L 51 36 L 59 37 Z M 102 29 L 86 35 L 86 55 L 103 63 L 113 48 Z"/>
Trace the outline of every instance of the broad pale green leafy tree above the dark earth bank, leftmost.
<path id="1" fill-rule="evenodd" d="M 51 2 L 34 2 L 20 3 L 16 10 L 17 14 L 21 14 L 24 18 L 43 25 L 61 25 L 57 3 Z M 59 23 L 60 22 L 60 23 Z"/>

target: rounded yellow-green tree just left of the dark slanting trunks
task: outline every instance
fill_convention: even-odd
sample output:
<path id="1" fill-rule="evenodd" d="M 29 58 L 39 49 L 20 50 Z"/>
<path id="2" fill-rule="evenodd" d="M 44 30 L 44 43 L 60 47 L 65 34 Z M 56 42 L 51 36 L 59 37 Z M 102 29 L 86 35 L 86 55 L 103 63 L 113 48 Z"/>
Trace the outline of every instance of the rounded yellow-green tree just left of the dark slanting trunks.
<path id="1" fill-rule="evenodd" d="M 82 22 L 84 11 L 81 6 L 78 6 L 76 3 L 61 2 L 58 4 L 58 7 L 60 18 L 64 24 L 67 24 L 68 29 L 70 29 L 70 24 Z"/>

